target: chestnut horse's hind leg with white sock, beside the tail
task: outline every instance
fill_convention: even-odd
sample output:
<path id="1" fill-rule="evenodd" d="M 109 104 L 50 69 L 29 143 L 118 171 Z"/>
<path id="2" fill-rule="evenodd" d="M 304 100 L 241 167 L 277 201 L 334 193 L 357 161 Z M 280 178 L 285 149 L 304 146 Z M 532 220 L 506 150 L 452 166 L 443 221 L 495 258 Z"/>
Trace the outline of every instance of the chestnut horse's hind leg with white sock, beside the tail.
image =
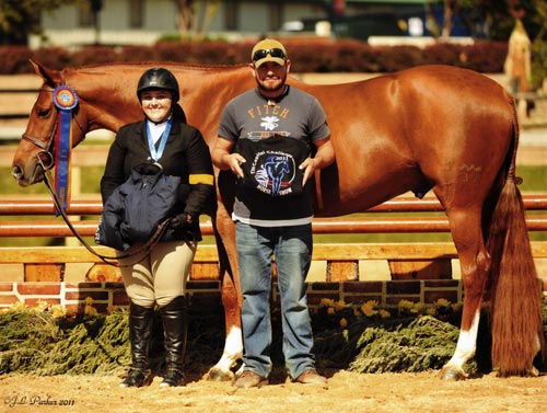
<path id="1" fill-rule="evenodd" d="M 465 378 L 465 363 L 475 355 L 490 257 L 482 238 L 480 208 L 452 208 L 446 210 L 446 215 L 459 259 L 465 294 L 459 337 L 452 358 L 442 369 L 442 379 L 459 380 Z"/>

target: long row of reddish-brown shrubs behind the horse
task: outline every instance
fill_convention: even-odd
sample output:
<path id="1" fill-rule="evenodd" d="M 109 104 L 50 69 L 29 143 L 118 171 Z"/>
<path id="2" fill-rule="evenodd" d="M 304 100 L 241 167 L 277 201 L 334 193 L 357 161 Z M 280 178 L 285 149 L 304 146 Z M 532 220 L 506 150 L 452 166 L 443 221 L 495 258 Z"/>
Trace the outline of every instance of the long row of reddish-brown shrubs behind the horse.
<path id="1" fill-rule="evenodd" d="M 479 72 L 500 72 L 508 46 L 503 42 L 474 45 L 437 43 L 415 46 L 371 46 L 359 41 L 290 38 L 284 44 L 293 72 L 393 72 L 412 66 L 443 64 Z M 181 42 L 153 46 L 83 46 L 73 51 L 61 47 L 30 49 L 0 46 L 0 74 L 30 73 L 28 59 L 51 69 L 108 62 L 177 61 L 199 65 L 237 65 L 249 60 L 251 43 Z"/>

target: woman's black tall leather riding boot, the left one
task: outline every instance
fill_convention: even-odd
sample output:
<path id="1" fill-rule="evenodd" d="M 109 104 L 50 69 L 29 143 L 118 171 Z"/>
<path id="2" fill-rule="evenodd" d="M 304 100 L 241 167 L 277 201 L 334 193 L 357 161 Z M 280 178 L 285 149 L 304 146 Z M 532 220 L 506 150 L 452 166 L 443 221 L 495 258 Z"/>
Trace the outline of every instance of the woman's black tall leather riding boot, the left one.
<path id="1" fill-rule="evenodd" d="M 141 387 L 147 385 L 151 378 L 148 353 L 153 317 L 153 308 L 141 307 L 133 302 L 129 306 L 129 340 L 132 363 L 127 378 L 119 383 L 119 387 Z"/>

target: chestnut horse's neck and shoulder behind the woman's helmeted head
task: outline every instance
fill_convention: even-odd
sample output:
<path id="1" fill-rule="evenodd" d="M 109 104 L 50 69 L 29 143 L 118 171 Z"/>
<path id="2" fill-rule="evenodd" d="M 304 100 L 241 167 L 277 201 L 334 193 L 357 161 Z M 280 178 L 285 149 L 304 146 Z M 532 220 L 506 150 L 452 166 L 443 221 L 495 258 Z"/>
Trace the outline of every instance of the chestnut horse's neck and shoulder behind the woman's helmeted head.
<path id="1" fill-rule="evenodd" d="M 248 69 L 242 66 L 164 66 L 178 79 L 181 104 L 189 115 L 188 123 L 207 137 L 216 135 L 225 103 L 254 84 Z M 86 111 L 90 130 L 104 128 L 117 131 L 123 125 L 142 118 L 136 90 L 140 76 L 149 67 L 152 65 L 112 65 L 86 68 L 71 74 L 73 89 L 82 94 L 82 108 Z"/>

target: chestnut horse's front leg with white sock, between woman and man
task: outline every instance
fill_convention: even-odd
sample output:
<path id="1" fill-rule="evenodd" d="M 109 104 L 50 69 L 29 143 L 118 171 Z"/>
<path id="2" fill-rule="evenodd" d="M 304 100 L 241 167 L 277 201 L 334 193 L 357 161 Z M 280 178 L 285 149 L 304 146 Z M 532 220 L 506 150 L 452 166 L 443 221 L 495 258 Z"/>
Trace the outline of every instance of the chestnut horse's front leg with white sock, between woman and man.
<path id="1" fill-rule="evenodd" d="M 222 305 L 224 307 L 225 343 L 220 360 L 209 369 L 207 378 L 214 381 L 232 380 L 232 367 L 243 356 L 241 329 L 241 294 L 237 280 L 237 252 L 235 228 L 225 209 L 219 207 L 213 219 L 219 251 Z"/>

